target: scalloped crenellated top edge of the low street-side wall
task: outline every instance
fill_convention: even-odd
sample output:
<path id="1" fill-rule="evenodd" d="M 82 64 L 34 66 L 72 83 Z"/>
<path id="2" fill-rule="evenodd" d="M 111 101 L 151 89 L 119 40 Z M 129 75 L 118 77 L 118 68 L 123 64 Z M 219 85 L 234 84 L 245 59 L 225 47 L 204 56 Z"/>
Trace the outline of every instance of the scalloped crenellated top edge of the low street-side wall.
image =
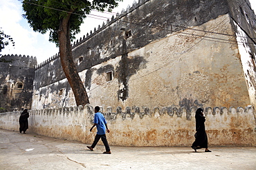
<path id="1" fill-rule="evenodd" d="M 51 115 L 51 114 L 60 114 L 60 115 L 72 115 L 77 114 L 78 112 L 83 111 L 86 109 L 90 112 L 90 114 L 94 114 L 93 107 L 91 105 L 85 105 L 82 107 L 81 105 L 79 107 L 61 107 L 61 108 L 51 108 L 51 109 L 37 109 L 37 110 L 31 110 L 31 114 L 36 115 Z M 190 109 L 185 109 L 185 107 L 154 107 L 153 109 L 149 109 L 149 107 L 126 107 L 125 109 L 122 109 L 121 107 L 117 107 L 116 109 L 113 109 L 112 107 L 103 108 L 100 107 L 100 111 L 104 116 L 107 118 L 107 120 L 116 120 L 118 116 L 122 118 L 122 120 L 125 120 L 127 118 L 134 119 L 135 117 L 138 117 L 140 119 L 143 119 L 145 116 L 152 118 L 154 116 L 163 117 L 163 116 L 169 116 L 170 118 L 183 118 L 184 120 L 192 120 L 192 116 L 195 115 L 197 107 L 190 107 Z M 209 116 L 223 116 L 223 115 L 246 115 L 255 114 L 253 112 L 253 107 L 205 107 L 204 109 L 205 117 Z"/>

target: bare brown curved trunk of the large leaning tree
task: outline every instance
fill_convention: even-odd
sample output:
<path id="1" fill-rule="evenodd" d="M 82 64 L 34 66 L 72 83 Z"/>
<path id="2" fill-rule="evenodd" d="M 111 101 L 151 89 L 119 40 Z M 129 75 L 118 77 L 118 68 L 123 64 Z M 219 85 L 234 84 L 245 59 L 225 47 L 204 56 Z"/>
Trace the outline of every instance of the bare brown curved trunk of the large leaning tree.
<path id="1" fill-rule="evenodd" d="M 57 32 L 60 45 L 60 61 L 68 83 L 73 90 L 76 105 L 84 106 L 89 103 L 89 98 L 73 61 L 70 42 L 70 16 L 71 14 L 68 14 L 67 17 L 60 21 L 60 27 Z"/>

